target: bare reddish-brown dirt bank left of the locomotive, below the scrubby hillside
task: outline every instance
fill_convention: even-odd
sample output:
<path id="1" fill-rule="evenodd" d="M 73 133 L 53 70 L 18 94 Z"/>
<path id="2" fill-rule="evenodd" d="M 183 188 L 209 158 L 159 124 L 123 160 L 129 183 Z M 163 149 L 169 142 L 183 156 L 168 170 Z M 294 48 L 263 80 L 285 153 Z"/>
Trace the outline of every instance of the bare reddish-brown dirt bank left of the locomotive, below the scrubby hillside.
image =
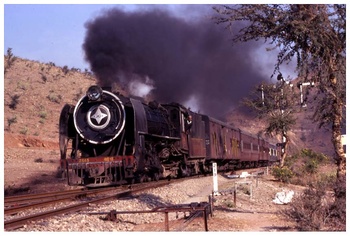
<path id="1" fill-rule="evenodd" d="M 66 188 L 66 181 L 56 177 L 59 166 L 58 142 L 5 132 L 5 196 Z"/>

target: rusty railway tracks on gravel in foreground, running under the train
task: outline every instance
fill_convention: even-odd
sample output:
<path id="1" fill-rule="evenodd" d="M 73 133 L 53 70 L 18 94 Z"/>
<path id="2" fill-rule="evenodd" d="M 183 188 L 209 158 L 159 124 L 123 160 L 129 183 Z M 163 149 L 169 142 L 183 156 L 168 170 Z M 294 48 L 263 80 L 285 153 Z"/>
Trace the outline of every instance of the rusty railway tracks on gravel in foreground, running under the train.
<path id="1" fill-rule="evenodd" d="M 84 207 L 102 203 L 104 201 L 113 200 L 121 197 L 126 197 L 136 192 L 145 191 L 151 188 L 157 188 L 165 186 L 169 183 L 175 183 L 177 181 L 188 180 L 190 178 L 199 178 L 200 176 L 192 176 L 189 178 L 183 179 L 172 179 L 169 180 L 161 180 L 158 182 L 147 182 L 142 184 L 134 184 L 129 186 L 118 186 L 118 187 L 109 187 L 109 188 L 99 188 L 99 189 L 75 189 L 61 192 L 50 192 L 50 193 L 41 193 L 41 194 L 30 194 L 30 195 L 22 195 L 22 196 L 12 196 L 6 197 L 4 199 L 4 213 L 5 216 L 15 215 L 18 213 L 24 213 L 28 210 L 33 210 L 35 208 L 54 205 L 55 203 L 62 203 L 65 201 L 73 201 L 78 200 L 80 202 L 76 204 L 69 203 L 70 205 L 65 207 L 59 207 L 57 209 L 48 209 L 43 210 L 42 212 L 36 214 L 28 214 L 23 217 L 10 218 L 4 222 L 5 230 L 11 230 L 20 228 L 25 224 L 28 224 L 35 220 L 40 220 L 44 218 L 48 218 L 50 216 L 57 216 L 60 214 L 71 213 L 80 211 Z M 108 192 L 114 192 L 108 194 Z M 104 194 L 105 196 L 101 196 Z M 93 196 L 96 195 L 96 196 Z M 93 196 L 93 199 L 86 199 L 87 196 Z M 82 202 L 83 201 L 83 202 Z M 49 208 L 49 207 L 46 207 Z M 56 208 L 56 207 L 55 207 Z M 18 214 L 19 215 L 19 214 Z M 5 217 L 6 219 L 6 217 Z"/>

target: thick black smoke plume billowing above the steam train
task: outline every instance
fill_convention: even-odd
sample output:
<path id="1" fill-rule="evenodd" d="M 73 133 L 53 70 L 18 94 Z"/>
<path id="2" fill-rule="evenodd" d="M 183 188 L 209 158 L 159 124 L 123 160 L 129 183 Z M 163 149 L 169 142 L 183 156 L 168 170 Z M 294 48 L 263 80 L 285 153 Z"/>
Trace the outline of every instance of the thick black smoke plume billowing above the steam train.
<path id="1" fill-rule="evenodd" d="M 102 86 L 137 74 L 153 80 L 157 101 L 184 104 L 195 96 L 201 113 L 220 118 L 263 80 L 250 62 L 257 45 L 233 45 L 229 31 L 205 13 L 189 19 L 115 8 L 86 28 L 86 60 Z"/>

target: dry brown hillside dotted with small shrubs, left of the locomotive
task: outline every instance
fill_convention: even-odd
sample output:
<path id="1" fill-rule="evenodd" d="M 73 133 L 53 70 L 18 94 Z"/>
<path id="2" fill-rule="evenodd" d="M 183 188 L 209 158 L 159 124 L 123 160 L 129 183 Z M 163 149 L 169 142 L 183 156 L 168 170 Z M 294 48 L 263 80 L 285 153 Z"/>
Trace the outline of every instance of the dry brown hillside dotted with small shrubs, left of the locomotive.
<path id="1" fill-rule="evenodd" d="M 5 58 L 5 132 L 58 141 L 58 120 L 65 103 L 76 102 L 95 83 L 81 73 L 53 63 Z"/>

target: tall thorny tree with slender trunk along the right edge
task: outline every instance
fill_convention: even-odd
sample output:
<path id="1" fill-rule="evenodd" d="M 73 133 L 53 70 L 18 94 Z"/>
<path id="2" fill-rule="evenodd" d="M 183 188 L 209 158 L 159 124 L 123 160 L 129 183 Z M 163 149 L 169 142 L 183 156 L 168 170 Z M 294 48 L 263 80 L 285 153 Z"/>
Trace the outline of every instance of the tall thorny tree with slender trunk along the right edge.
<path id="1" fill-rule="evenodd" d="M 214 8 L 216 23 L 227 24 L 234 42 L 263 39 L 279 49 L 273 74 L 296 60 L 302 82 L 315 82 L 320 127 L 332 127 L 337 180 L 345 186 L 346 157 L 341 144 L 345 120 L 346 5 L 288 4 L 234 5 Z M 234 31 L 237 22 L 242 28 Z M 337 197 L 345 197 L 336 190 Z"/>

